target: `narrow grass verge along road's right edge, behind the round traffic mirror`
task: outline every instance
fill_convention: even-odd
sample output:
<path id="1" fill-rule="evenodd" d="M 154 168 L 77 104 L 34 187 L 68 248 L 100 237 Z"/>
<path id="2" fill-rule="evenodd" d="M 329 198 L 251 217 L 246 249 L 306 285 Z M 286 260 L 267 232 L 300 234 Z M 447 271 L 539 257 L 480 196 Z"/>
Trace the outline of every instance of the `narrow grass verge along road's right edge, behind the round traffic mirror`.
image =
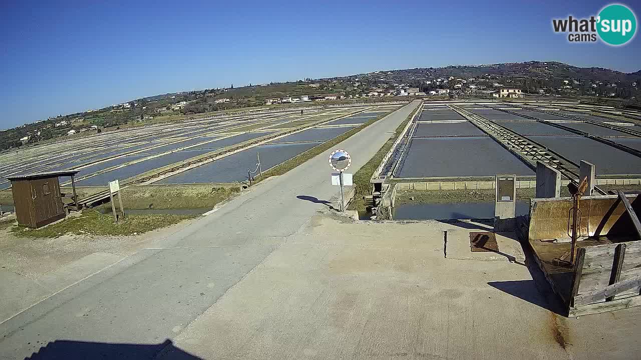
<path id="1" fill-rule="evenodd" d="M 385 142 L 383 146 L 378 149 L 378 152 L 376 152 L 376 154 L 374 154 L 374 156 L 369 161 L 367 161 L 365 165 L 363 165 L 360 169 L 358 169 L 356 173 L 354 173 L 353 181 L 356 193 L 354 195 L 354 200 L 349 205 L 350 210 L 365 211 L 365 202 L 363 202 L 363 196 L 370 195 L 372 185 L 369 181 L 372 178 L 372 174 L 374 174 L 374 171 L 376 170 L 376 168 L 378 168 L 378 165 L 381 165 L 381 161 L 383 161 L 383 158 L 385 158 L 387 152 L 392 149 L 392 145 L 394 145 L 396 139 L 401 135 L 401 132 L 408 124 L 408 122 L 412 120 L 412 117 L 417 111 L 419 111 L 419 108 L 416 108 L 410 113 L 410 115 L 407 115 L 407 118 L 403 122 L 401 122 L 401 124 L 394 131 L 394 135 L 390 136 L 387 142 Z"/>

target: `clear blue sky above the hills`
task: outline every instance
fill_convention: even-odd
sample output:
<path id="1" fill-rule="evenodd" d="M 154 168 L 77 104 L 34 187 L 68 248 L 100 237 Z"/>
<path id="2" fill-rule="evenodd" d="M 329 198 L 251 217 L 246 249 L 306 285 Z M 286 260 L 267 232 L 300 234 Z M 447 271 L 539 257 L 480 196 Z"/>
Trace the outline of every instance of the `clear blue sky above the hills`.
<path id="1" fill-rule="evenodd" d="M 552 32 L 553 17 L 608 3 L 5 0 L 0 128 L 167 92 L 375 70 L 556 60 L 637 71 L 638 34 L 608 47 Z"/>

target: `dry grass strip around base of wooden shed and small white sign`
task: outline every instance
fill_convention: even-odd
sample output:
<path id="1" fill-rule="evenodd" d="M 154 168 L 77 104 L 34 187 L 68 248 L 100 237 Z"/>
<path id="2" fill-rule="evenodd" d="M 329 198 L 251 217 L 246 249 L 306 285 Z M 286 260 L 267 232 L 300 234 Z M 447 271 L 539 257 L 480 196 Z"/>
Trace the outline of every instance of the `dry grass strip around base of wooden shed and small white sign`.
<path id="1" fill-rule="evenodd" d="M 42 229 L 28 229 L 15 226 L 11 232 L 23 238 L 57 238 L 64 234 L 76 235 L 133 235 L 178 224 L 183 220 L 194 218 L 194 215 L 130 215 L 113 223 L 111 214 L 104 215 L 98 211 L 83 211 L 82 215 L 67 218 L 58 224 Z"/>

